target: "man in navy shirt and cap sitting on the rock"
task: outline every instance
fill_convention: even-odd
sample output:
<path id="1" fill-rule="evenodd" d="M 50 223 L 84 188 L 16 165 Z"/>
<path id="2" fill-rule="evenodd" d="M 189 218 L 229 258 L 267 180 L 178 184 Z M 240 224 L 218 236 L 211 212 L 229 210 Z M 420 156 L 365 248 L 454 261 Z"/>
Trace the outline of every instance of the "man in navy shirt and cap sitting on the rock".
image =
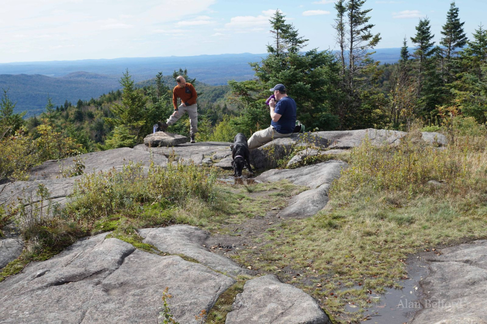
<path id="1" fill-rule="evenodd" d="M 278 84 L 270 89 L 274 92 L 274 99 L 269 102 L 270 127 L 265 130 L 255 132 L 249 138 L 249 149 L 264 145 L 276 138 L 288 137 L 293 134 L 296 126 L 296 102 L 286 93 L 286 87 Z"/>

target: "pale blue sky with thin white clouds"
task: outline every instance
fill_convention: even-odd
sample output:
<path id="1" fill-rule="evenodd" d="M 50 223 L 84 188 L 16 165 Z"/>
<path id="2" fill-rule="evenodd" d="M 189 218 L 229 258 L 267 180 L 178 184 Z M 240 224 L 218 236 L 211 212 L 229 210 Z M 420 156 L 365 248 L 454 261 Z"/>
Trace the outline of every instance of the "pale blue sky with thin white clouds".
<path id="1" fill-rule="evenodd" d="M 392 48 L 426 16 L 438 42 L 449 4 L 367 0 L 364 8 L 373 9 L 373 32 L 382 36 L 377 48 Z M 456 5 L 469 37 L 487 24 L 487 1 Z M 335 48 L 333 0 L 16 0 L 0 7 L 0 63 L 265 53 L 276 9 L 309 39 L 308 49 Z"/>

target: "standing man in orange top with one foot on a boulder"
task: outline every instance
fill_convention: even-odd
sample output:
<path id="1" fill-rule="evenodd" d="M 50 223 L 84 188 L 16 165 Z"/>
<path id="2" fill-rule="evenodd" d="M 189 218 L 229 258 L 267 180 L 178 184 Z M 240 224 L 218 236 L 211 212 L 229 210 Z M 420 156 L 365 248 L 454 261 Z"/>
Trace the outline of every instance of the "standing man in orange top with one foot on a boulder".
<path id="1" fill-rule="evenodd" d="M 193 85 L 186 82 L 186 79 L 180 75 L 176 78 L 178 85 L 172 89 L 172 104 L 174 105 L 174 112 L 165 123 L 160 121 L 157 123 L 159 129 L 163 132 L 167 130 L 167 127 L 176 123 L 185 112 L 188 112 L 189 123 L 191 125 L 189 134 L 191 136 L 191 143 L 194 143 L 194 134 L 198 131 L 198 105 L 196 104 L 196 90 Z M 178 107 L 178 98 L 181 99 L 181 105 Z"/>

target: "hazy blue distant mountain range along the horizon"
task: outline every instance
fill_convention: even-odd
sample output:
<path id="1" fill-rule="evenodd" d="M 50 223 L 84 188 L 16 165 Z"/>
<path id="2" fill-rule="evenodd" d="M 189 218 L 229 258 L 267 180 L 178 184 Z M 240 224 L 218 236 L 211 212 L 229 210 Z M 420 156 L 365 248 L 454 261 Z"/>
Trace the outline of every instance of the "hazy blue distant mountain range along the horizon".
<path id="1" fill-rule="evenodd" d="M 17 102 L 16 112 L 27 116 L 44 110 L 48 95 L 54 105 L 65 100 L 75 104 L 120 89 L 119 79 L 128 68 L 135 82 L 153 78 L 158 72 L 171 75 L 188 69 L 190 77 L 208 85 L 226 85 L 228 80 L 254 77 L 249 62 L 259 62 L 267 54 L 221 54 L 148 58 L 119 58 L 78 61 L 0 63 L 0 89 L 9 89 L 9 97 Z M 381 63 L 399 60 L 400 48 L 377 49 L 373 54 Z M 172 86 L 172 85 L 168 85 Z"/>

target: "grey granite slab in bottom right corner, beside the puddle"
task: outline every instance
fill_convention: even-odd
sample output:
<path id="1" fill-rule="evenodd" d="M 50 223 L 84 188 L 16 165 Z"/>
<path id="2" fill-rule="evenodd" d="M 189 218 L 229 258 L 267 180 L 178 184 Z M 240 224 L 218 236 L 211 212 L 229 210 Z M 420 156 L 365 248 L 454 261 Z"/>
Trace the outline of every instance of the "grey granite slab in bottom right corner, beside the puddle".
<path id="1" fill-rule="evenodd" d="M 423 308 L 411 323 L 487 323 L 487 240 L 441 252 L 428 260 Z"/>

